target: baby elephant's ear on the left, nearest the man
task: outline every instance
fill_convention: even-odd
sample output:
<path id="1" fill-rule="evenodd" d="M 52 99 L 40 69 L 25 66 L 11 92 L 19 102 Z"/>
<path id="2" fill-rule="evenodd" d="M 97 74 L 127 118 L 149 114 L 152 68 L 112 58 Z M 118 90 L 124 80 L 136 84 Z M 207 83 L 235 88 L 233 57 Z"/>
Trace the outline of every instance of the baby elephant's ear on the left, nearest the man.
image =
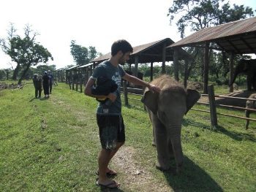
<path id="1" fill-rule="evenodd" d="M 158 99 L 159 93 L 152 93 L 151 91 L 145 91 L 143 94 L 143 97 L 140 101 L 143 102 L 143 104 L 148 107 L 151 112 L 154 114 L 157 114 L 157 99 Z"/>

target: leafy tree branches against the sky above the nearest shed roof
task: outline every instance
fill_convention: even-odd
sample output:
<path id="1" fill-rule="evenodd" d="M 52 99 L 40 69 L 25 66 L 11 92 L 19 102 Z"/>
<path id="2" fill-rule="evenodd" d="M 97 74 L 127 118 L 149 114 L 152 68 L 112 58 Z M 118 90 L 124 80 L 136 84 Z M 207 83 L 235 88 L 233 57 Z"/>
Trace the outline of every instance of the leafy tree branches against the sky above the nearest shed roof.
<path id="1" fill-rule="evenodd" d="M 252 17 L 253 11 L 250 7 L 244 5 L 238 6 L 233 4 L 230 7 L 229 1 L 220 6 L 224 0 L 177 0 L 173 1 L 172 7 L 169 8 L 168 16 L 170 23 L 177 18 L 178 13 L 180 18 L 176 25 L 184 38 L 185 28 L 190 25 L 192 31 L 198 31 L 201 28 L 217 26 L 222 23 L 228 23 L 235 20 Z"/>

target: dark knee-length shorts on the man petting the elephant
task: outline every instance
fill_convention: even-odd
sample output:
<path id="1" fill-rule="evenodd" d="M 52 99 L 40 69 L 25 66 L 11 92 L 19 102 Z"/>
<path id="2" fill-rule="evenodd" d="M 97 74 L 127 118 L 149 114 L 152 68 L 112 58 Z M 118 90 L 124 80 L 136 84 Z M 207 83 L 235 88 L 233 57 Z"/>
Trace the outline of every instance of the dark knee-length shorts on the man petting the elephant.
<path id="1" fill-rule="evenodd" d="M 97 114 L 99 139 L 103 149 L 113 150 L 116 142 L 125 141 L 124 120 L 121 115 Z"/>

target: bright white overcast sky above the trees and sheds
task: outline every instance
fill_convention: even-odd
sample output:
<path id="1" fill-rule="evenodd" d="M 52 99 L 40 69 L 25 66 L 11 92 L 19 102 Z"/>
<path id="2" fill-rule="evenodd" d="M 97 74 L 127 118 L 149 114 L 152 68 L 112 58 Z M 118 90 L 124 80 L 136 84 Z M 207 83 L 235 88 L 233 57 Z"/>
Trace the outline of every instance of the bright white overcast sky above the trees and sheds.
<path id="1" fill-rule="evenodd" d="M 20 36 L 29 24 L 39 33 L 37 42 L 53 55 L 48 64 L 59 69 L 75 64 L 71 40 L 83 47 L 96 47 L 102 54 L 109 53 L 117 39 L 127 39 L 133 47 L 165 38 L 177 42 L 180 34 L 167 17 L 172 4 L 171 0 L 1 0 L 0 38 L 7 37 L 10 23 Z M 255 0 L 230 0 L 230 4 L 256 9 Z M 11 64 L 16 66 L 0 50 L 0 69 Z"/>

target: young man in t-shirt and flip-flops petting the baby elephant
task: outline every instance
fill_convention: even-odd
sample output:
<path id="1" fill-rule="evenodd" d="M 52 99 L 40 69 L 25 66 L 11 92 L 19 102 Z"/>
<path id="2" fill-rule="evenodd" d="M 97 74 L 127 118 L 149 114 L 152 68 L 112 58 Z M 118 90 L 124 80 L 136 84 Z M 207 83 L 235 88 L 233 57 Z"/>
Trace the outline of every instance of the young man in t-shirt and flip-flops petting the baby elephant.
<path id="1" fill-rule="evenodd" d="M 99 126 L 99 138 L 102 149 L 99 152 L 98 166 L 99 166 L 99 179 L 97 185 L 105 186 L 108 188 L 117 188 L 119 186 L 114 180 L 110 180 L 108 175 L 115 175 L 116 172 L 108 168 L 108 164 L 116 154 L 119 147 L 124 145 L 125 132 L 124 121 L 121 116 L 121 98 L 120 87 L 121 78 L 132 82 L 135 85 L 148 87 L 150 91 L 159 92 L 159 88 L 154 85 L 144 82 L 143 80 L 133 77 L 121 68 L 129 60 L 129 55 L 132 53 L 132 46 L 126 40 L 118 40 L 113 43 L 111 47 L 111 58 L 108 61 L 103 61 L 94 69 L 92 76 L 86 84 L 85 94 L 97 98 L 99 100 L 109 99 L 112 104 L 99 103 L 97 108 L 97 124 Z M 109 80 L 114 80 L 118 85 L 118 91 L 105 95 L 94 95 L 91 89 L 99 77 L 106 77 Z"/>

